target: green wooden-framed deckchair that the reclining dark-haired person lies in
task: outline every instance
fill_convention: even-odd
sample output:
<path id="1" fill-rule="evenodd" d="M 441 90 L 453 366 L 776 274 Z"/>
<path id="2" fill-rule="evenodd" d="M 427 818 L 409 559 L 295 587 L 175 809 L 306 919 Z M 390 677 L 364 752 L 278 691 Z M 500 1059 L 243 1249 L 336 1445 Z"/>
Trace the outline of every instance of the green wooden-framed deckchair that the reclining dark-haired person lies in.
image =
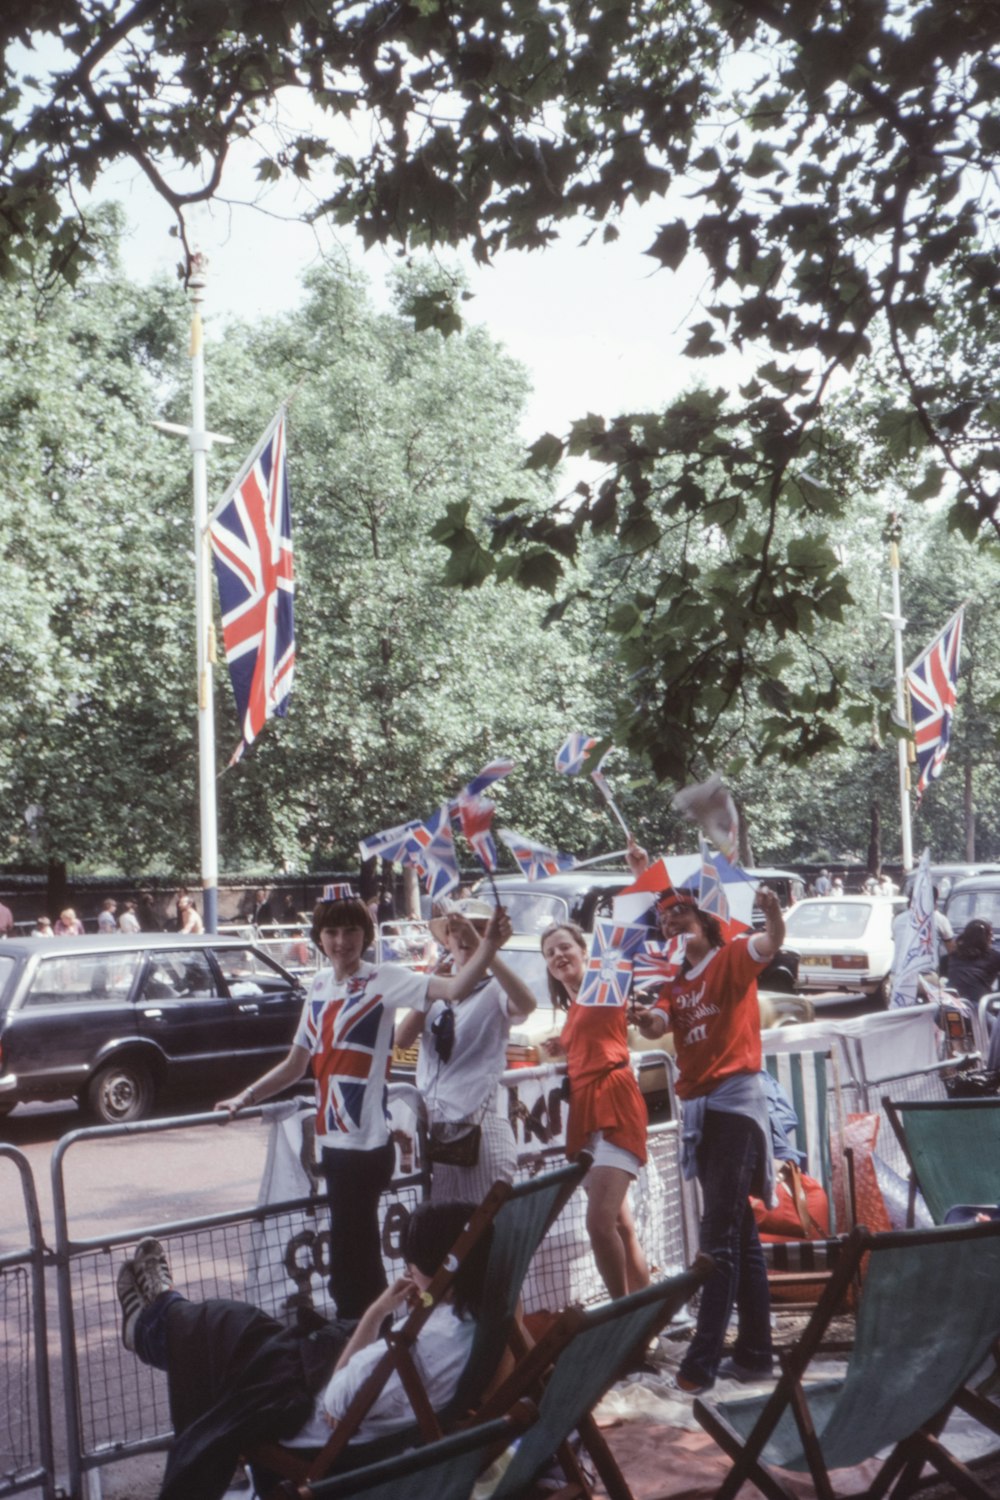
<path id="1" fill-rule="evenodd" d="M 294 1449 L 261 1444 L 247 1455 L 247 1460 L 288 1479 L 315 1479 L 330 1473 L 394 1371 L 399 1372 L 414 1410 L 414 1425 L 391 1438 L 391 1446 L 396 1449 L 435 1442 L 454 1426 L 459 1418 L 474 1410 L 496 1376 L 507 1348 L 510 1347 L 516 1356 L 525 1348 L 516 1310 L 528 1266 L 544 1234 L 582 1182 L 588 1166 L 589 1158 L 556 1172 L 540 1173 L 513 1186 L 495 1182 L 418 1306 L 402 1328 L 387 1335 L 385 1353 L 319 1454 L 306 1460 Z M 412 1347 L 433 1308 L 447 1296 L 460 1262 L 490 1224 L 493 1238 L 486 1266 L 483 1312 L 477 1320 L 469 1359 L 453 1400 L 441 1412 L 435 1412 L 414 1364 Z M 388 1440 L 379 1443 L 382 1452 Z"/>

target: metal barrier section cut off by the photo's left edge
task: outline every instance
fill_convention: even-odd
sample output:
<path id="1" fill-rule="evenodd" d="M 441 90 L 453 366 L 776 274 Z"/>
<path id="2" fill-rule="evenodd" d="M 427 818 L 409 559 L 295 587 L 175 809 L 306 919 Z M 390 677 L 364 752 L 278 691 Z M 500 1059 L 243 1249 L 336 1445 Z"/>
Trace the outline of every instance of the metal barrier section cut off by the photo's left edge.
<path id="1" fill-rule="evenodd" d="M 13 1146 L 0 1144 L 6 1239 L 18 1233 L 13 1230 L 18 1198 L 22 1246 L 0 1254 L 0 1496 L 40 1490 L 45 1500 L 54 1500 L 42 1221 L 27 1158 Z"/>

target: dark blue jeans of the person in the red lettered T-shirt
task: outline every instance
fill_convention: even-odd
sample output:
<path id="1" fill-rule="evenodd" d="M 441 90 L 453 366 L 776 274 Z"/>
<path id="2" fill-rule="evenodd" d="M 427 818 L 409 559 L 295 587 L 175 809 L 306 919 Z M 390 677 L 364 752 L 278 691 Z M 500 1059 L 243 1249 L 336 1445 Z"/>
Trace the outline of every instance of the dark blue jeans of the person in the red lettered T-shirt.
<path id="1" fill-rule="evenodd" d="M 699 1248 L 715 1262 L 715 1272 L 702 1287 L 694 1338 L 681 1364 L 681 1374 L 700 1386 L 715 1380 L 726 1329 L 736 1306 L 733 1358 L 748 1370 L 771 1370 L 771 1293 L 757 1221 L 750 1208 L 754 1168 L 765 1143 L 745 1114 L 706 1110 L 697 1149 L 702 1185 Z"/>

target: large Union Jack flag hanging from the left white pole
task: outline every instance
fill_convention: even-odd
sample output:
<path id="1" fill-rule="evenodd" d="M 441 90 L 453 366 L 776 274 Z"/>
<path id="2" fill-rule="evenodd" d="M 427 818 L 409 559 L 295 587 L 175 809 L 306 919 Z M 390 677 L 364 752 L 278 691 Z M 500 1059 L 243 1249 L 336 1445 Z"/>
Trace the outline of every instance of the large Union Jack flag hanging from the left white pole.
<path id="1" fill-rule="evenodd" d="M 243 738 L 283 718 L 295 672 L 292 532 L 282 408 L 216 506 L 208 525 L 219 579 L 222 640 Z"/>

